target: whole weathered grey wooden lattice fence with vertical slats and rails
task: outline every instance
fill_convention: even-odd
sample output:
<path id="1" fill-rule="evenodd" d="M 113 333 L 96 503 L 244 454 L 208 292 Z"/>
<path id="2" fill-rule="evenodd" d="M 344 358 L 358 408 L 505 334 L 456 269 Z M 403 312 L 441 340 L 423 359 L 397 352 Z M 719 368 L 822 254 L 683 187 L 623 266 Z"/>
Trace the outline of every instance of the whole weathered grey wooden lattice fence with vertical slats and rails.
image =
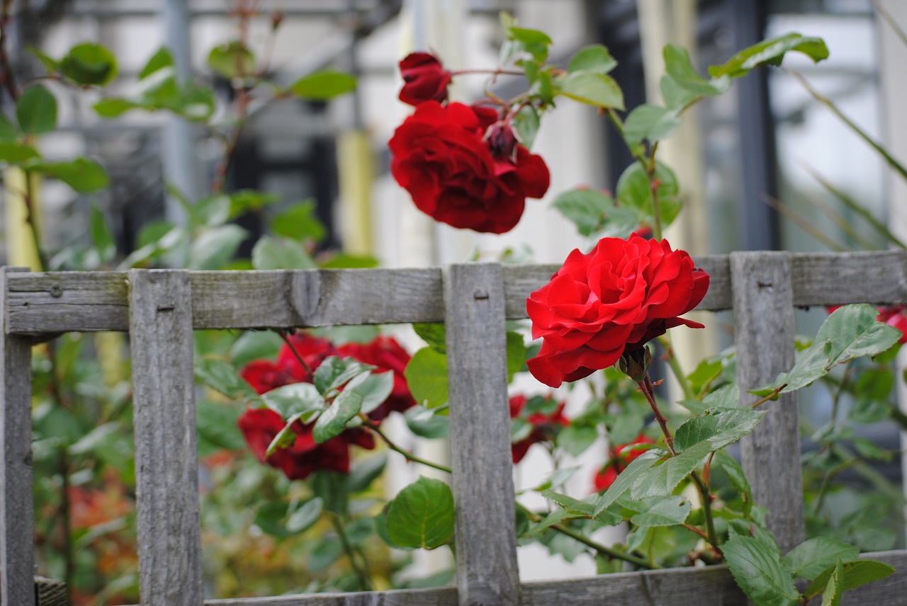
<path id="1" fill-rule="evenodd" d="M 794 361 L 795 307 L 907 302 L 907 254 L 733 253 L 697 259 L 712 276 L 698 309 L 733 308 L 737 379 L 746 389 Z M 134 388 L 143 606 L 718 606 L 746 600 L 726 567 L 520 582 L 517 570 L 504 321 L 554 265 L 32 274 L 0 270 L 5 402 L 0 420 L 0 602 L 34 606 L 31 345 L 62 332 L 128 331 Z M 192 370 L 193 329 L 445 322 L 456 503 L 455 588 L 203 601 Z M 783 550 L 803 539 L 793 395 L 741 448 L 756 502 Z M 897 572 L 845 594 L 907 603 L 907 552 L 873 553 Z"/>

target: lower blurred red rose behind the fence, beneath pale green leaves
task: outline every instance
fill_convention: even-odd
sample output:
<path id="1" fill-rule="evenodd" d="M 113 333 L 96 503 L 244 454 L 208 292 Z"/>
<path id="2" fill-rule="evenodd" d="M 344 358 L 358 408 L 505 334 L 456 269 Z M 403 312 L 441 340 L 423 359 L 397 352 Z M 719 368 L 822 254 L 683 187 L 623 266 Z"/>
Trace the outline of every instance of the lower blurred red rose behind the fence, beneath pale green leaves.
<path id="1" fill-rule="evenodd" d="M 312 424 L 303 425 L 296 421 L 292 425 L 296 434 L 293 444 L 279 448 L 267 457 L 268 445 L 283 429 L 284 419 L 271 409 L 248 409 L 239 417 L 238 425 L 249 443 L 249 450 L 258 461 L 277 467 L 291 480 L 305 479 L 318 469 L 348 474 L 350 444 L 368 449 L 375 447 L 371 435 L 361 429 L 345 431 L 336 438 L 317 444 L 312 437 Z"/>

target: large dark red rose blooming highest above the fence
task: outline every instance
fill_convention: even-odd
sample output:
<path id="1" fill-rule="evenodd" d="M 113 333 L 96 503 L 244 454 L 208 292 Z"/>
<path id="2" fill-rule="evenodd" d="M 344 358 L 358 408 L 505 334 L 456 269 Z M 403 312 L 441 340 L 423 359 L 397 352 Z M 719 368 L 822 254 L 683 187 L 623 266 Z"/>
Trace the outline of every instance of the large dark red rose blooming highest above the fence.
<path id="1" fill-rule="evenodd" d="M 416 106 L 388 143 L 391 173 L 435 220 L 502 234 L 520 221 L 526 197 L 544 196 L 551 176 L 522 145 L 510 156 L 493 156 L 484 121 L 462 103 Z"/>

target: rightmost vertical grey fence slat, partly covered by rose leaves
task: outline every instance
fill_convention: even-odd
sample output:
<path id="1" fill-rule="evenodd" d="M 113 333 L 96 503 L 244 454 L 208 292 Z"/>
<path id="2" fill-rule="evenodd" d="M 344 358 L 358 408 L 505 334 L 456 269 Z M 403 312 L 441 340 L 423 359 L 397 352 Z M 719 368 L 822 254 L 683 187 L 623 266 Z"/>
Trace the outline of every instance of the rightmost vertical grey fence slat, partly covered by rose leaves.
<path id="1" fill-rule="evenodd" d="M 731 253 L 736 379 L 740 406 L 746 393 L 775 380 L 794 365 L 794 307 L 788 253 Z M 804 540 L 803 476 L 796 396 L 768 401 L 756 430 L 740 441 L 753 498 L 768 508 L 767 524 L 786 552 Z"/>

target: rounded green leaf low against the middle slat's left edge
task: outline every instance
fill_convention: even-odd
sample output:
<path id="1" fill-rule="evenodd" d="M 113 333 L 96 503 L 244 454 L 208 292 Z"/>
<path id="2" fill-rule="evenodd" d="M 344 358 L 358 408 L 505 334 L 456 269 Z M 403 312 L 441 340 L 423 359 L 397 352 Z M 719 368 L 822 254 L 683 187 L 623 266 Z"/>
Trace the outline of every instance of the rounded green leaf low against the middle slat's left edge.
<path id="1" fill-rule="evenodd" d="M 453 493 L 441 480 L 420 476 L 387 505 L 387 535 L 409 549 L 435 549 L 453 539 Z"/>

